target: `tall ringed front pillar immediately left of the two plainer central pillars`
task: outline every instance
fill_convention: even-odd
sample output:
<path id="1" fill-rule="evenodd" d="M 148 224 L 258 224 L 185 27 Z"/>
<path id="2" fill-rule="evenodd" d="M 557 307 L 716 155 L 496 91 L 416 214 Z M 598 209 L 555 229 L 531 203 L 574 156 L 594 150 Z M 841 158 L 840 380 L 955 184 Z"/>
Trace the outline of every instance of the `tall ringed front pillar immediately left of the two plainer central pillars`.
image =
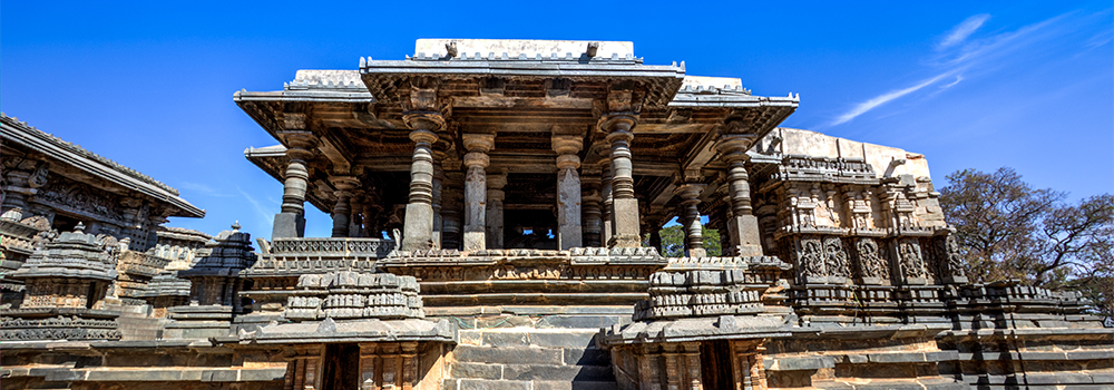
<path id="1" fill-rule="evenodd" d="M 403 251 L 429 250 L 433 247 L 433 154 L 437 142 L 434 130 L 444 126 L 440 114 L 413 113 L 403 115 L 414 142 L 413 160 L 410 165 L 410 199 L 407 204 L 405 223 L 402 232 Z"/>

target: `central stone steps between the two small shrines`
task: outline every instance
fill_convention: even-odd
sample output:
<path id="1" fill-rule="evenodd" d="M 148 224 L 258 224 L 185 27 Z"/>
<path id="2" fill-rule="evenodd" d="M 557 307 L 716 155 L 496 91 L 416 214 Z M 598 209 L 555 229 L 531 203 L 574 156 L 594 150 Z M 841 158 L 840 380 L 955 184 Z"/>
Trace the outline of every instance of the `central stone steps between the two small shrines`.
<path id="1" fill-rule="evenodd" d="M 461 329 L 442 389 L 616 389 L 610 357 L 596 348 L 599 328 L 535 326 Z"/>

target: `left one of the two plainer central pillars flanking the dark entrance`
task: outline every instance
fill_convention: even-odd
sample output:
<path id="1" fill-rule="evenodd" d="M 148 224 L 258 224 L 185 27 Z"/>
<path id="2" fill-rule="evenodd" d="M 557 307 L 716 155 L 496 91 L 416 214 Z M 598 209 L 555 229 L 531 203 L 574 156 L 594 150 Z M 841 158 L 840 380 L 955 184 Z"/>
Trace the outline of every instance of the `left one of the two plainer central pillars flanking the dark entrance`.
<path id="1" fill-rule="evenodd" d="M 465 251 L 481 251 L 487 246 L 487 153 L 495 146 L 494 134 L 465 134 Z"/>

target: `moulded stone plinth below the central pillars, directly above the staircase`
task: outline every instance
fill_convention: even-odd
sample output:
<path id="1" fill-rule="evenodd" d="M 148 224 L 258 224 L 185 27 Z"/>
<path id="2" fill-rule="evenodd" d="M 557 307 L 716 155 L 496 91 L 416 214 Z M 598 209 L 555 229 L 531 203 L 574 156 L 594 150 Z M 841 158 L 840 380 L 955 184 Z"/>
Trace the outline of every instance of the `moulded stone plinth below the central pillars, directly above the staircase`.
<path id="1" fill-rule="evenodd" d="M 395 251 L 383 271 L 421 282 L 427 306 L 628 305 L 666 260 L 649 247 Z"/>

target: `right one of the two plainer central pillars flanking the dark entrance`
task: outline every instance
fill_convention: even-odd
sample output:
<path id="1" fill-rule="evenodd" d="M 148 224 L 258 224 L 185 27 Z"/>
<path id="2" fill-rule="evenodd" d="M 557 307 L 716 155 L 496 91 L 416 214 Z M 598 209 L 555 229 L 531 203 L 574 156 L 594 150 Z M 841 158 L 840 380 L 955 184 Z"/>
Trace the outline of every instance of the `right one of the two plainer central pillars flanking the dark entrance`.
<path id="1" fill-rule="evenodd" d="M 557 152 L 557 245 L 561 251 L 584 246 L 580 225 L 580 167 L 577 153 L 584 142 L 575 135 L 554 135 Z"/>

